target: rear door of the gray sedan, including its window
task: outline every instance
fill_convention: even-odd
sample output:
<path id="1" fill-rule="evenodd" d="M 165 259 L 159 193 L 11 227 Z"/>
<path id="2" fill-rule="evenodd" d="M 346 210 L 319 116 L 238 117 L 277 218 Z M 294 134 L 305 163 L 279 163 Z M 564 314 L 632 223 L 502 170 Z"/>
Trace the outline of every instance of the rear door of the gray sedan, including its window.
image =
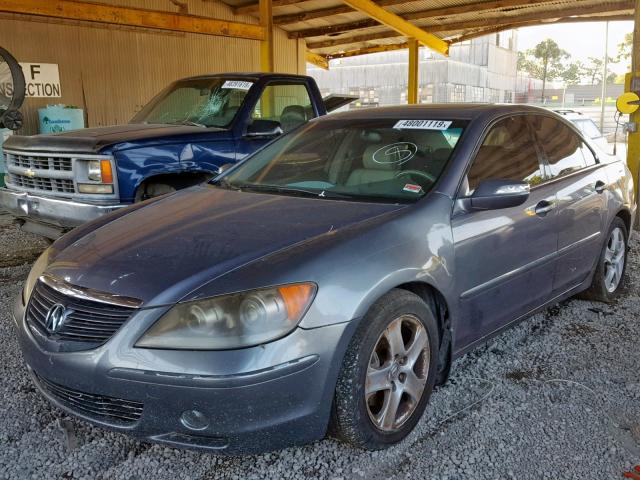
<path id="1" fill-rule="evenodd" d="M 607 175 L 580 135 L 560 119 L 532 117 L 558 195 L 558 261 L 554 293 L 579 285 L 600 255 L 606 219 Z"/>

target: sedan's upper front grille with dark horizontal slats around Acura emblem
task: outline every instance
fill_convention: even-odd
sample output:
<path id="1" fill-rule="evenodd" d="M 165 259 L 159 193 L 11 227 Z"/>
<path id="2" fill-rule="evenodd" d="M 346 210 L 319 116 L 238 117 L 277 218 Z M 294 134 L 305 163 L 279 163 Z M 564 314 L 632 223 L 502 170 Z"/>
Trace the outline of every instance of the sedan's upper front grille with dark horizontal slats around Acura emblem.
<path id="1" fill-rule="evenodd" d="M 71 313 L 63 325 L 55 333 L 51 333 L 46 326 L 47 313 L 56 304 L 63 305 Z M 31 328 L 48 338 L 97 346 L 109 340 L 134 310 L 130 307 L 69 297 L 38 281 L 29 299 L 26 319 Z"/>

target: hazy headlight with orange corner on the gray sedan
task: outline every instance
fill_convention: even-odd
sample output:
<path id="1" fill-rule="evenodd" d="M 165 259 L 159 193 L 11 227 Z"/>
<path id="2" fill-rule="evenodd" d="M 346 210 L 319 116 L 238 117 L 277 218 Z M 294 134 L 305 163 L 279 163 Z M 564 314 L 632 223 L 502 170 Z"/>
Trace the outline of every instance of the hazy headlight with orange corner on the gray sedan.
<path id="1" fill-rule="evenodd" d="M 315 293 L 315 284 L 297 283 L 179 303 L 136 346 L 228 350 L 260 345 L 296 328 Z"/>

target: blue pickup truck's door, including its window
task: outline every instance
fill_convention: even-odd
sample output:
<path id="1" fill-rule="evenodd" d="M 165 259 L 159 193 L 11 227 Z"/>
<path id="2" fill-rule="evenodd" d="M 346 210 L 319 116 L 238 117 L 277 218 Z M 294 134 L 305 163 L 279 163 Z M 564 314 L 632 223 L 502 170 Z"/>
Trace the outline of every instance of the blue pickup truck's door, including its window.
<path id="1" fill-rule="evenodd" d="M 244 159 L 279 135 L 317 116 L 318 111 L 304 82 L 275 80 L 267 83 L 237 140 L 236 159 Z"/>

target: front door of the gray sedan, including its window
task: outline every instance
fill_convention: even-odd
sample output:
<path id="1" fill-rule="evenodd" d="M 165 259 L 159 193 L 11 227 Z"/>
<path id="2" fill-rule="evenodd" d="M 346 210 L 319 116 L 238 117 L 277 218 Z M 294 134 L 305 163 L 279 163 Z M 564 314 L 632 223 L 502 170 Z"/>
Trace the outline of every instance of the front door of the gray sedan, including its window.
<path id="1" fill-rule="evenodd" d="M 473 211 L 468 197 L 483 180 L 527 181 L 520 206 Z M 551 297 L 557 251 L 555 187 L 546 183 L 541 155 L 524 115 L 488 131 L 468 171 L 452 219 L 464 348 L 528 313 Z"/>

